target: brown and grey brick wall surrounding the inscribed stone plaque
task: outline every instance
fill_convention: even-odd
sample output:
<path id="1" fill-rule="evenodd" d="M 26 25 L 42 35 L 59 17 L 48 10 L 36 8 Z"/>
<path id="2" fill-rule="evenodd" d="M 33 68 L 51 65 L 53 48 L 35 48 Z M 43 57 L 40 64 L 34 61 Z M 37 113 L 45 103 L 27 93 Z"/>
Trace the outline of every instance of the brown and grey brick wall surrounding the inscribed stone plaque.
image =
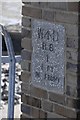
<path id="1" fill-rule="evenodd" d="M 22 6 L 22 96 L 21 118 L 80 118 L 80 53 L 78 3 L 30 3 Z M 65 89 L 64 94 L 50 92 L 32 84 L 32 18 L 64 26 Z"/>

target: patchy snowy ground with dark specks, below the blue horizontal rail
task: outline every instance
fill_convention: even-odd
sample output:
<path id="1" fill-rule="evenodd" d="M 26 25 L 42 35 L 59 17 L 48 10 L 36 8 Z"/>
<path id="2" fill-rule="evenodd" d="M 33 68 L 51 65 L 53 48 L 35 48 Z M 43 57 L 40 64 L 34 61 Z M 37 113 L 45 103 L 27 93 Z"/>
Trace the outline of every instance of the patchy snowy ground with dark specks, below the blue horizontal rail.
<path id="1" fill-rule="evenodd" d="M 0 108 L 0 120 L 1 118 L 7 118 L 8 114 L 8 87 L 9 87 L 9 64 L 2 64 L 1 74 L 1 105 Z M 14 105 L 14 117 L 19 118 L 21 114 L 21 65 L 16 63 L 15 72 L 15 105 Z"/>

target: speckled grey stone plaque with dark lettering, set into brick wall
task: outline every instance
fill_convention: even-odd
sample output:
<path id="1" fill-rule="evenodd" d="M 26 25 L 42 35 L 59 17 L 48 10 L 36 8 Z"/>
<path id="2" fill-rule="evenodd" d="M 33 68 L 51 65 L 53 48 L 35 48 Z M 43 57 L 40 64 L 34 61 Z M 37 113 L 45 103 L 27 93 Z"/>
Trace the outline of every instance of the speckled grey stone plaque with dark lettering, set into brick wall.
<path id="1" fill-rule="evenodd" d="M 63 93 L 64 36 L 62 25 L 46 21 L 32 22 L 32 83 Z"/>

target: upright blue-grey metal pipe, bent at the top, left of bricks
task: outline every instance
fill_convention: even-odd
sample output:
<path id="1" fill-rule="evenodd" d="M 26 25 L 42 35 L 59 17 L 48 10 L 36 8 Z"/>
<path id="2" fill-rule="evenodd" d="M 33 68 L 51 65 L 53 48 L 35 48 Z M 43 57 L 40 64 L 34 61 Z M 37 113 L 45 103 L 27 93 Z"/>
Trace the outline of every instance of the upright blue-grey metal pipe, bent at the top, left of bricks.
<path id="1" fill-rule="evenodd" d="M 15 53 L 12 40 L 6 28 L 2 26 L 2 32 L 9 55 L 9 91 L 8 91 L 8 119 L 14 119 L 14 94 L 15 94 Z"/>

